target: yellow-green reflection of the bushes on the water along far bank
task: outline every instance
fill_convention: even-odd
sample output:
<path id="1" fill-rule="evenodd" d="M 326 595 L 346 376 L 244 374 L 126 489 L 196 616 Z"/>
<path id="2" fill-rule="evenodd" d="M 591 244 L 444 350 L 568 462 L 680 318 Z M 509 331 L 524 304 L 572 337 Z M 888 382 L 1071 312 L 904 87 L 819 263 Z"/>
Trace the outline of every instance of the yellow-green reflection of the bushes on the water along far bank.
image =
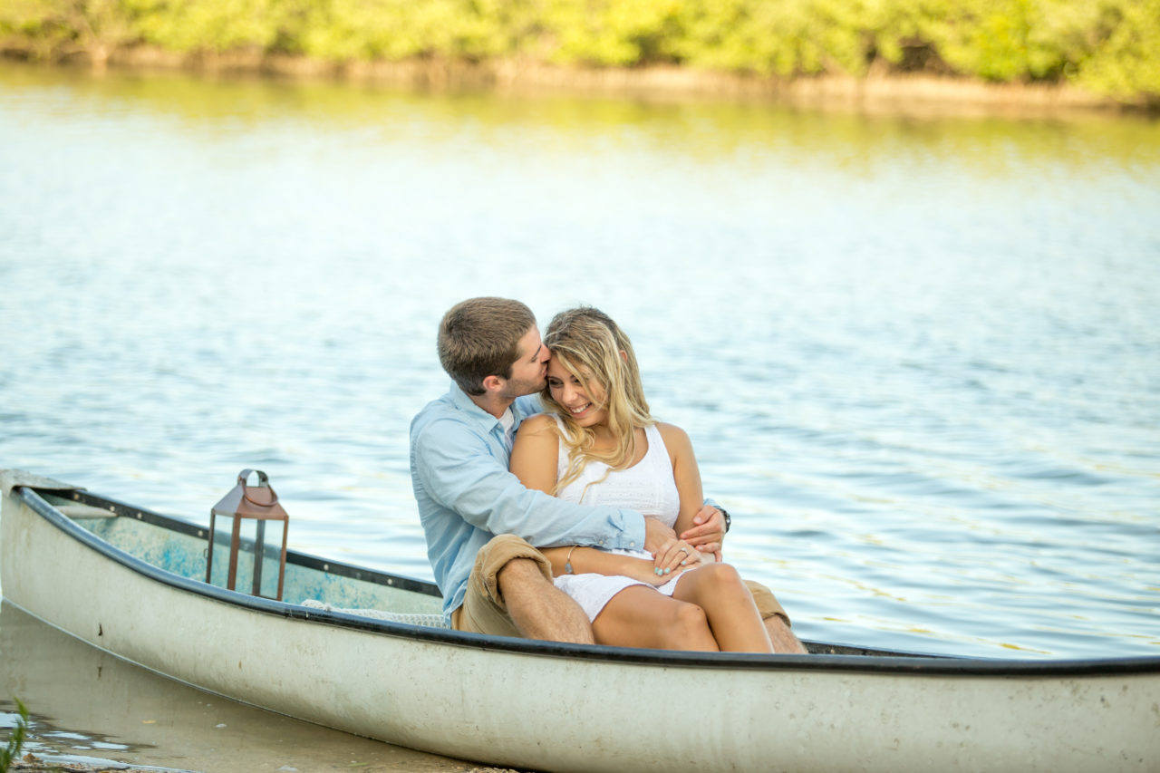
<path id="1" fill-rule="evenodd" d="M 795 110 L 706 97 L 675 101 L 600 96 L 521 96 L 478 92 L 416 93 L 390 87 L 204 80 L 183 74 L 108 73 L 0 67 L 2 99 L 34 104 L 45 118 L 78 109 L 104 116 L 89 130 L 111 130 L 140 114 L 202 139 L 304 129 L 338 133 L 354 147 L 519 147 L 558 159 L 616 149 L 659 152 L 686 162 L 760 175 L 768 159 L 854 178 L 906 175 L 952 165 L 957 174 L 1052 185 L 1044 173 L 1128 174 L 1147 186 L 1160 161 L 1160 128 L 1139 116 L 1088 115 L 1013 122 L 1002 118 L 867 116 Z M 94 116 L 95 117 L 95 116 Z M 244 149 L 261 152 L 255 143 Z M 309 151 L 310 149 L 305 149 Z M 756 167 L 755 167 L 756 165 Z"/>

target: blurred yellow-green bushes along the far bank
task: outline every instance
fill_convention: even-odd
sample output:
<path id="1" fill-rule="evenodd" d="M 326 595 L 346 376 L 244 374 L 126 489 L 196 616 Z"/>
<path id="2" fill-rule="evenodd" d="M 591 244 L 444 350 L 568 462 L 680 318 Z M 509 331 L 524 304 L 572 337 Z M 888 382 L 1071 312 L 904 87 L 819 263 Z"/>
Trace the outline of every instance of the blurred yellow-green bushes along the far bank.
<path id="1" fill-rule="evenodd" d="M 1160 104 L 1160 0 L 0 0 L 0 48 L 334 63 L 923 73 Z"/>

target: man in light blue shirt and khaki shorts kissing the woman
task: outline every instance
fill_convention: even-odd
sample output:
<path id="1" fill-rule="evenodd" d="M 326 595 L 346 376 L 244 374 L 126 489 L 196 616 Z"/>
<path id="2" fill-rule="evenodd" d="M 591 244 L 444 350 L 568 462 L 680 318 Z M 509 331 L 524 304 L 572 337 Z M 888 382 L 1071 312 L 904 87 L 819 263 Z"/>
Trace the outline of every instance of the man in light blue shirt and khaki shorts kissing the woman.
<path id="1" fill-rule="evenodd" d="M 440 324 L 438 354 L 454 383 L 411 424 L 411 479 L 444 615 L 456 630 L 593 643 L 583 611 L 552 585 L 551 566 L 534 546 L 653 551 L 672 529 L 635 511 L 525 489 L 508 472 L 516 428 L 539 411 L 535 393 L 549 360 L 524 304 L 472 298 L 455 305 Z M 706 505 L 681 539 L 716 551 L 722 521 Z M 804 651 L 773 594 L 756 587 L 775 650 Z"/>

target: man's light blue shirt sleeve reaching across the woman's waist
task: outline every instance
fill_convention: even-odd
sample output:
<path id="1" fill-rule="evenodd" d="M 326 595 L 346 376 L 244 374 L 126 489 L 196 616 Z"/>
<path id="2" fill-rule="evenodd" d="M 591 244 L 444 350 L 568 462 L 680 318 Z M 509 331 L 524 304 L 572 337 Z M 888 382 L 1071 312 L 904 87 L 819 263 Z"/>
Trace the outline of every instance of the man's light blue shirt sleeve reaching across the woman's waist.
<path id="1" fill-rule="evenodd" d="M 413 445 L 415 472 L 426 493 L 477 528 L 515 534 L 537 547 L 647 544 L 639 513 L 575 505 L 527 489 L 491 455 L 486 439 L 461 422 L 436 419 Z"/>

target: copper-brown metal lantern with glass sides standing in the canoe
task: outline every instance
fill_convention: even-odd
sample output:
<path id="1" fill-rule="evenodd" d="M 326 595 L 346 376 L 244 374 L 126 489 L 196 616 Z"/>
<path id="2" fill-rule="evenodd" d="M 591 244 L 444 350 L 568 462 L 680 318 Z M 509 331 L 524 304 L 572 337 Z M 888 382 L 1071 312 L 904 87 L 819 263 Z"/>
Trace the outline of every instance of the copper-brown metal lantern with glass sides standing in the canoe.
<path id="1" fill-rule="evenodd" d="M 248 485 L 251 474 L 258 485 Z M 242 470 L 238 485 L 210 510 L 205 581 L 282 600 L 290 516 L 261 470 Z"/>

